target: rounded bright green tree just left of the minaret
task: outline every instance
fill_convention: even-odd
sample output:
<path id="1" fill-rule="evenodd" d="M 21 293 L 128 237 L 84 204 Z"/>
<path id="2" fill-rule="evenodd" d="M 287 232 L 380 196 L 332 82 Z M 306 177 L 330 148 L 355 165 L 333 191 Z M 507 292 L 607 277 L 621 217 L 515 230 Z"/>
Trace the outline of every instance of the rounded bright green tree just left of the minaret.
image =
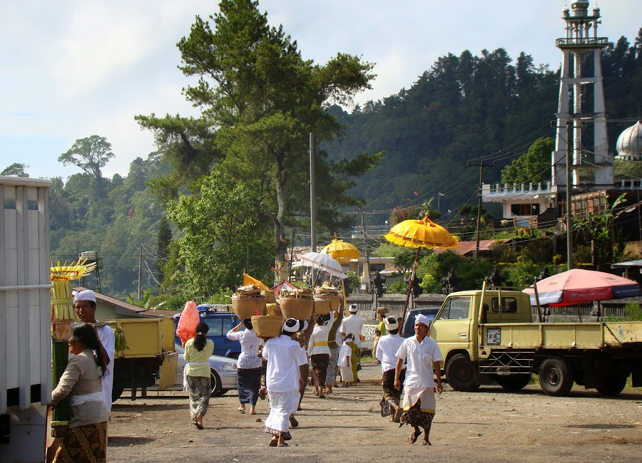
<path id="1" fill-rule="evenodd" d="M 555 142 L 551 137 L 535 140 L 527 152 L 501 170 L 501 182 L 513 184 L 549 180 L 554 148 Z"/>

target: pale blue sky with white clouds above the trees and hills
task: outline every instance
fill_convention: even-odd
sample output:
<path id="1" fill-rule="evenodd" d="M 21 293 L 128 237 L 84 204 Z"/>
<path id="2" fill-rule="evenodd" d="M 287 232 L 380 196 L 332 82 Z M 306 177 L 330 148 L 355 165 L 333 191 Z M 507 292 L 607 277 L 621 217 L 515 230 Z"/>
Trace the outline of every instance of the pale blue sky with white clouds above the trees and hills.
<path id="1" fill-rule="evenodd" d="M 372 90 L 356 103 L 410 88 L 439 56 L 506 48 L 556 70 L 564 36 L 564 0 L 260 0 L 273 26 L 298 43 L 302 57 L 325 63 L 336 53 L 376 63 Z M 596 1 L 591 0 L 589 11 Z M 642 26 L 639 0 L 601 0 L 598 36 L 633 42 Z M 113 159 L 103 175 L 127 175 L 155 150 L 135 115 L 197 115 L 181 89 L 175 44 L 216 0 L 21 0 L 0 9 L 0 170 L 14 162 L 30 177 L 81 172 L 58 157 L 73 142 L 106 137 Z"/>

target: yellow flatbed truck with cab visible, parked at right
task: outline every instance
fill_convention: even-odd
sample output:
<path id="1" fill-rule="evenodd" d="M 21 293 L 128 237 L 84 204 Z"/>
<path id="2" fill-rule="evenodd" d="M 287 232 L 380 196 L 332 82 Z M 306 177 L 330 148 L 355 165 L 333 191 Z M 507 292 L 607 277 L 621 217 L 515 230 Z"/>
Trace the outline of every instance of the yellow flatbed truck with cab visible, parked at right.
<path id="1" fill-rule="evenodd" d="M 520 390 L 539 375 L 542 390 L 564 396 L 573 384 L 618 395 L 631 375 L 642 386 L 642 322 L 539 323 L 528 294 L 481 289 L 449 294 L 430 327 L 454 390 L 496 381 Z"/>

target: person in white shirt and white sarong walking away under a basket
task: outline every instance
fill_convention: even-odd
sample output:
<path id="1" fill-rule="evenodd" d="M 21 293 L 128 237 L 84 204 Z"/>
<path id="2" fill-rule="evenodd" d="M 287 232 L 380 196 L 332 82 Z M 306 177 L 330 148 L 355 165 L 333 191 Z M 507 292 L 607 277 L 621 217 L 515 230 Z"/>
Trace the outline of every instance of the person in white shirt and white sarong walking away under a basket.
<path id="1" fill-rule="evenodd" d="M 290 414 L 297 410 L 303 378 L 300 365 L 307 363 L 307 355 L 292 335 L 302 328 L 300 321 L 288 318 L 281 335 L 265 341 L 263 358 L 267 360 L 265 386 L 270 397 L 270 415 L 265 420 L 265 432 L 272 435 L 270 447 L 289 447 L 285 442 L 290 435 Z"/>

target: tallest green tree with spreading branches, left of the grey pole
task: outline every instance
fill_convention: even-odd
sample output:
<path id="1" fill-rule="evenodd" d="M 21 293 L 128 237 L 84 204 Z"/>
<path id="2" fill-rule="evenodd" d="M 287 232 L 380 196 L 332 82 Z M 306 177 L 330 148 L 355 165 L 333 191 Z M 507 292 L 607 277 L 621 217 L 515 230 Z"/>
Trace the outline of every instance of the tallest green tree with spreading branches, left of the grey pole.
<path id="1" fill-rule="evenodd" d="M 259 180 L 260 214 L 273 227 L 277 260 L 285 259 L 285 228 L 308 210 L 308 134 L 321 144 L 340 135 L 329 103 L 347 104 L 370 88 L 373 65 L 338 53 L 325 65 L 302 58 L 297 43 L 282 27 L 271 27 L 258 1 L 223 0 L 210 16 L 215 29 L 197 16 L 190 35 L 178 42 L 185 76 L 198 83 L 185 96 L 202 114 L 156 118 L 138 116 L 154 131 L 156 142 L 179 172 L 156 183 L 170 193 L 181 182 L 199 177 L 220 163 L 233 178 Z M 328 162 L 323 150 L 315 157 L 318 218 L 327 229 L 347 224 L 340 209 L 362 202 L 347 194 L 382 153 Z"/>

